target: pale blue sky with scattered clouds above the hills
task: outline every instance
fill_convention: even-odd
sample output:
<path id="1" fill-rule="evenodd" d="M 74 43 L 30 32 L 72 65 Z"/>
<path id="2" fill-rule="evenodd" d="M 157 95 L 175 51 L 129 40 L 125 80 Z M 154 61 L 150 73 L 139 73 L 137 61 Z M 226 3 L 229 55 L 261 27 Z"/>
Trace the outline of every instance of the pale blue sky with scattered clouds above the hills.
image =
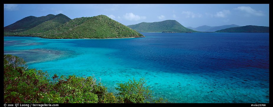
<path id="1" fill-rule="evenodd" d="M 64 14 L 70 19 L 106 15 L 126 26 L 176 20 L 184 27 L 269 27 L 269 4 L 4 4 L 4 27 L 28 16 Z"/>

